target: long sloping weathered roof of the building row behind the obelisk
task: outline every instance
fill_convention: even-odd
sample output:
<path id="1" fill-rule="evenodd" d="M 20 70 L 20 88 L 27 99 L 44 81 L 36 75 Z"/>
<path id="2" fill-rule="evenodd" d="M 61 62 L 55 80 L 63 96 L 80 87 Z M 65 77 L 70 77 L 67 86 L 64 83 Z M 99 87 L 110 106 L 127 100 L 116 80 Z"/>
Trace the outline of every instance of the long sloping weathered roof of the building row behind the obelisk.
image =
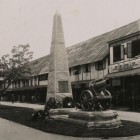
<path id="1" fill-rule="evenodd" d="M 102 60 L 109 53 L 108 42 L 140 31 L 140 20 L 121 28 L 91 38 L 66 48 L 69 67 Z M 46 73 L 49 70 L 49 55 L 30 62 L 32 74 Z"/>

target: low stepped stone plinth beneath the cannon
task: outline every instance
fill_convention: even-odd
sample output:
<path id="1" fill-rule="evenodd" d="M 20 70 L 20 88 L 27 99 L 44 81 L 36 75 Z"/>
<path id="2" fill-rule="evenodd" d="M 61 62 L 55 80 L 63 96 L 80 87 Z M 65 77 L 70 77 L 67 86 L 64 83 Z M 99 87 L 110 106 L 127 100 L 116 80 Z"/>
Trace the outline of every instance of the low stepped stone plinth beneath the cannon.
<path id="1" fill-rule="evenodd" d="M 122 125 L 118 114 L 112 110 L 90 112 L 68 108 L 53 109 L 50 119 L 87 129 L 113 129 Z"/>

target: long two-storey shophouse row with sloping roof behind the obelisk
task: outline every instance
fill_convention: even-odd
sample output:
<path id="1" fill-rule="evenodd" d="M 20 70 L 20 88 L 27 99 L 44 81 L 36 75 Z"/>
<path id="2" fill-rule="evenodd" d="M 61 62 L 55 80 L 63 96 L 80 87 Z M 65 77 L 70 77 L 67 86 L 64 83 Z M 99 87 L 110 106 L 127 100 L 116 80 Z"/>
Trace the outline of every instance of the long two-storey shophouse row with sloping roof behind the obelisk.
<path id="1" fill-rule="evenodd" d="M 131 103 L 132 107 L 140 101 L 140 20 L 66 50 L 75 100 L 91 80 L 108 77 L 112 81 L 110 90 L 114 105 L 129 106 Z M 48 66 L 49 55 L 31 61 L 31 77 L 13 83 L 7 94 L 14 93 L 20 101 L 45 102 Z"/>

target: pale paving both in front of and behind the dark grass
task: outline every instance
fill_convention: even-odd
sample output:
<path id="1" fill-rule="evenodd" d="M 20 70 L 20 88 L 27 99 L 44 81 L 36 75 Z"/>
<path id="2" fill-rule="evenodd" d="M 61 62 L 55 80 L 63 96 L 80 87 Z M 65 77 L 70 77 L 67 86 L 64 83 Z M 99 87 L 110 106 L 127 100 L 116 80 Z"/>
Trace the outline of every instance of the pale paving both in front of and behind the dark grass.
<path id="1" fill-rule="evenodd" d="M 2 105 L 26 107 L 33 109 L 43 109 L 44 105 L 27 104 L 27 103 L 11 103 L 0 101 Z M 116 110 L 114 110 L 116 111 Z M 140 122 L 140 113 L 129 111 L 118 111 L 119 118 Z M 102 138 L 77 138 L 71 136 L 63 136 L 42 132 L 9 120 L 0 118 L 0 140 L 101 140 Z M 140 140 L 140 135 L 131 137 L 109 138 L 110 140 Z"/>

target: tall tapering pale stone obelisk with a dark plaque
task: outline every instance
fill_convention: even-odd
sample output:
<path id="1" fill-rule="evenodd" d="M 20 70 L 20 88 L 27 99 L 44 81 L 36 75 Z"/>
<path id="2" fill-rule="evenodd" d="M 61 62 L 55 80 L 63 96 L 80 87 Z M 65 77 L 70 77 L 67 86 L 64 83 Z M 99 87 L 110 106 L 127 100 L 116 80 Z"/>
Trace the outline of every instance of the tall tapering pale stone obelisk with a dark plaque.
<path id="1" fill-rule="evenodd" d="M 50 97 L 54 97 L 58 101 L 62 101 L 64 97 L 72 97 L 62 21 L 58 12 L 54 15 L 53 20 L 49 60 L 47 100 Z"/>

